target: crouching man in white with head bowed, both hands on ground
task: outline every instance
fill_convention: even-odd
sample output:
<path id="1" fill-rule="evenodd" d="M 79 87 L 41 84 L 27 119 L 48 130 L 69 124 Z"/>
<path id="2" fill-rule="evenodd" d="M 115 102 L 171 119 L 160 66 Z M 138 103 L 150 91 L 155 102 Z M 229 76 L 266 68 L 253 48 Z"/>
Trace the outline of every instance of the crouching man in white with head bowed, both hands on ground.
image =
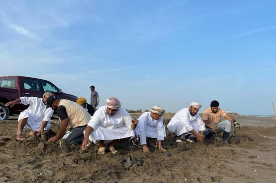
<path id="1" fill-rule="evenodd" d="M 161 151 L 166 151 L 162 147 L 162 141 L 166 137 L 165 125 L 163 124 L 162 115 L 165 113 L 165 109 L 161 106 L 153 106 L 151 112 L 144 112 L 139 118 L 139 124 L 135 129 L 136 136 L 140 138 L 140 145 L 143 147 L 143 152 L 149 152 L 149 146 L 152 145 L 152 141 L 157 139 L 158 148 Z M 147 138 L 148 145 L 147 145 Z"/>

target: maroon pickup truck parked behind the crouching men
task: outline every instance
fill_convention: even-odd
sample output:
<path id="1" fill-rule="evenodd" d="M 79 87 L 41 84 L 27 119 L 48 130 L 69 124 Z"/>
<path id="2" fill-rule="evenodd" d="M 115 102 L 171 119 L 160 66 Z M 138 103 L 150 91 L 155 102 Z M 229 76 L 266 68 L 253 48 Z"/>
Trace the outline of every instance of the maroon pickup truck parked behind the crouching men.
<path id="1" fill-rule="evenodd" d="M 78 97 L 63 93 L 50 81 L 24 76 L 2 76 L 0 77 L 0 121 L 8 119 L 9 116 L 18 115 L 28 106 L 15 104 L 12 108 L 6 107 L 7 102 L 19 97 L 42 98 L 44 92 L 51 92 L 60 99 L 69 99 L 74 102 Z"/>

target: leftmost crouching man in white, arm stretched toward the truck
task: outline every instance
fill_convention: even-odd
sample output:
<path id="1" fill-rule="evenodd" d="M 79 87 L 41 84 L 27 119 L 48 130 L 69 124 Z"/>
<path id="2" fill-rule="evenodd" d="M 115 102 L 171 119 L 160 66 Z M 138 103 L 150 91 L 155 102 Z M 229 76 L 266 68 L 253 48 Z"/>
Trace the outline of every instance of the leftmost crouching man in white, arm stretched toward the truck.
<path id="1" fill-rule="evenodd" d="M 45 92 L 42 98 L 38 97 L 20 97 L 14 101 L 6 103 L 5 106 L 14 106 L 14 104 L 29 105 L 28 109 L 21 112 L 18 116 L 18 126 L 16 140 L 23 141 L 26 138 L 22 135 L 23 128 L 31 130 L 30 136 L 36 137 L 38 132 L 47 131 L 51 128 L 50 119 L 53 116 L 53 109 L 46 109 L 47 98 L 53 96 L 50 92 Z"/>

